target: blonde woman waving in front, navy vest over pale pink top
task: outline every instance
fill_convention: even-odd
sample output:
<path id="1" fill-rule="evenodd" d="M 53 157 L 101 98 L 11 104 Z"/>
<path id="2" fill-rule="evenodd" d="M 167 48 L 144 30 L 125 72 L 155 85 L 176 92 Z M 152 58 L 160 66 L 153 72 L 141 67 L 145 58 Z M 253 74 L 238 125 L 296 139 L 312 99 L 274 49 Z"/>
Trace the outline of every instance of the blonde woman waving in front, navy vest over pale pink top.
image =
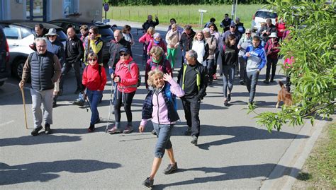
<path id="1" fill-rule="evenodd" d="M 174 159 L 170 136 L 174 124 L 179 120 L 176 96 L 184 96 L 184 91 L 168 73 L 164 74 L 162 71 L 155 69 L 154 71 L 150 71 L 148 76 L 147 83 L 150 88 L 142 106 L 142 121 L 139 126 L 139 131 L 142 133 L 147 124 L 147 120 L 152 119 L 152 124 L 157 133 L 155 158 L 150 177 L 147 177 L 142 183 L 147 187 L 152 187 L 155 174 L 159 169 L 159 165 L 161 164 L 164 155 L 164 150 L 167 150 L 170 162 L 168 167 L 164 170 L 164 174 L 171 174 L 177 170 L 177 162 Z"/>

